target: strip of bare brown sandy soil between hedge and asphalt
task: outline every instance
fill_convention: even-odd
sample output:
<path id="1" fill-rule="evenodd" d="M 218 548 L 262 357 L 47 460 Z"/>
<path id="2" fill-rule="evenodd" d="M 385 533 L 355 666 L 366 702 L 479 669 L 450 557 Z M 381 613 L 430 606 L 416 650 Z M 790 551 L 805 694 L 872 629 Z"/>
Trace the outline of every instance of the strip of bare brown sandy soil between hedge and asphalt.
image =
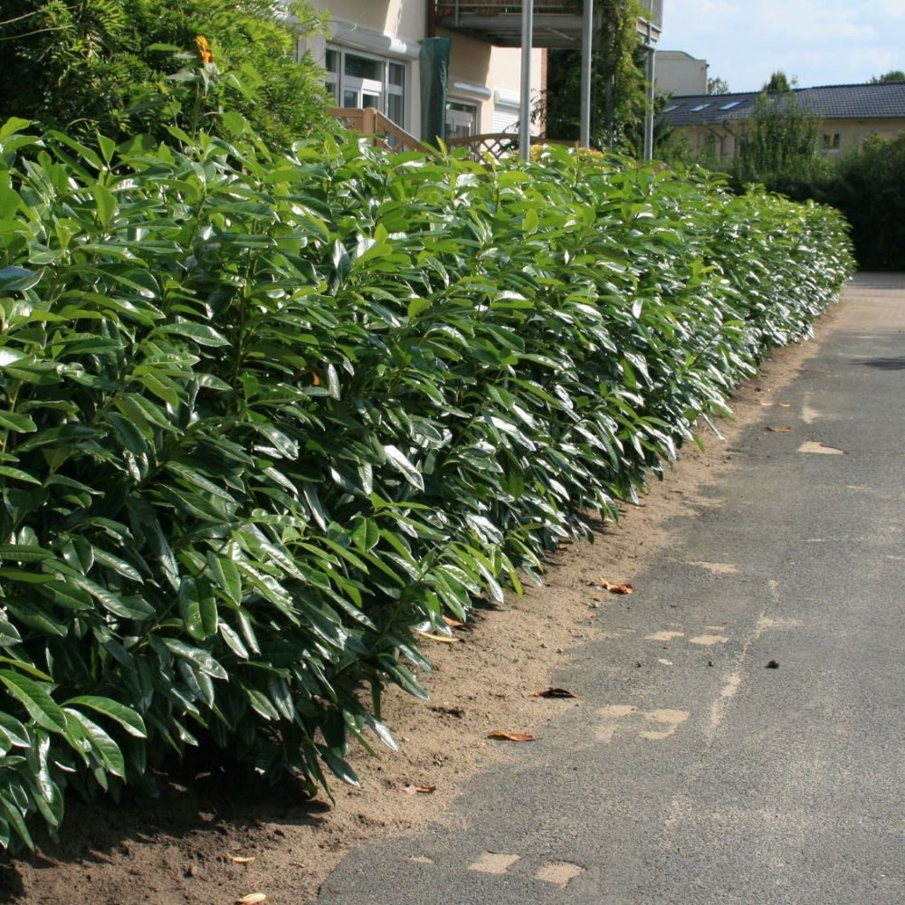
<path id="1" fill-rule="evenodd" d="M 834 316 L 818 322 L 817 341 Z M 782 424 L 783 389 L 813 352 L 814 341 L 779 350 L 734 396 L 735 419 L 719 424 L 722 439 L 708 432 L 706 452 L 683 450 L 666 480 L 655 481 L 640 506 L 625 507 L 617 524 L 601 526 L 595 543 L 560 549 L 545 586 L 504 607 L 475 608 L 456 643 L 425 640 L 430 700 L 387 694 L 384 716 L 401 751 L 382 749 L 379 760 L 358 752 L 360 790 L 337 783 L 330 806 L 290 787 L 189 764 L 167 777 L 157 799 L 69 802 L 59 843 L 45 841 L 33 857 L 0 863 L 0 899 L 229 905 L 262 893 L 267 905 L 303 905 L 357 845 L 448 819 L 462 783 L 512 745 L 488 738 L 491 731 L 539 732 L 563 708 L 579 706 L 533 693 L 548 688 L 570 647 L 618 622 L 631 597 L 608 593 L 602 583 L 631 582 L 662 550 L 668 519 L 712 505 L 700 491 L 732 461 L 734 437 L 765 411 Z"/>

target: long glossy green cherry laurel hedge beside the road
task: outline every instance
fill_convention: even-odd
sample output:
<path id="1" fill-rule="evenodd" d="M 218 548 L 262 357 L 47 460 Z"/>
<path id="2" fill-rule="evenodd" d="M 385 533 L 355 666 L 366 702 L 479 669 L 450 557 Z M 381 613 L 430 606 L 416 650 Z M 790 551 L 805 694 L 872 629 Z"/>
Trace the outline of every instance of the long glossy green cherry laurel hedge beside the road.
<path id="1" fill-rule="evenodd" d="M 4 845 L 202 739 L 357 782 L 416 631 L 614 518 L 852 267 L 700 170 L 181 138 L 0 130 Z"/>

